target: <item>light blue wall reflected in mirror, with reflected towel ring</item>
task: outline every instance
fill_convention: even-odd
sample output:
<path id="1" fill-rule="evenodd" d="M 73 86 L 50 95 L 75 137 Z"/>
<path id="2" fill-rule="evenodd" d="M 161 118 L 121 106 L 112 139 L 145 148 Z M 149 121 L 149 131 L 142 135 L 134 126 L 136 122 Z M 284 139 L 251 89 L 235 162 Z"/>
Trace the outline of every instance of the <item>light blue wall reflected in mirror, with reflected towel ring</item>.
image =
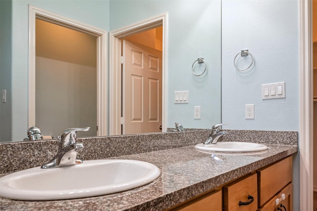
<path id="1" fill-rule="evenodd" d="M 221 1 L 110 0 L 110 31 L 168 13 L 167 127 L 211 128 L 221 119 Z M 124 14 L 124 15 L 122 15 Z M 192 64 L 205 57 L 208 73 L 195 77 Z M 174 104 L 174 91 L 189 90 L 188 104 Z M 194 120 L 201 106 L 201 120 Z"/>

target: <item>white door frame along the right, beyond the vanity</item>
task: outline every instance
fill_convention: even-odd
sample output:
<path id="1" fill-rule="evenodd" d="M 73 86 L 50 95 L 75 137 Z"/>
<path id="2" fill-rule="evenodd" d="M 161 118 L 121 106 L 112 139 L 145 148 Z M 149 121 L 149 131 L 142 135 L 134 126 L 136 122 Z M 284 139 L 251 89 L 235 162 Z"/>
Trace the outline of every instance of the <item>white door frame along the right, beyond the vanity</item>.
<path id="1" fill-rule="evenodd" d="M 299 0 L 300 210 L 313 210 L 313 39 L 312 1 Z M 296 191 L 296 190 L 295 190 Z"/>

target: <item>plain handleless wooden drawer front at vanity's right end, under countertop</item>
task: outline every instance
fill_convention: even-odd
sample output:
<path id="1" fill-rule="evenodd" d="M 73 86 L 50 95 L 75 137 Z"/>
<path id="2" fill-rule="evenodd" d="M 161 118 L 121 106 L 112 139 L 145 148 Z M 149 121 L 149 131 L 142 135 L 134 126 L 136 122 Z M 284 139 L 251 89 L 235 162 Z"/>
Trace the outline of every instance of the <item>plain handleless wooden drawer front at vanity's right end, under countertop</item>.
<path id="1" fill-rule="evenodd" d="M 292 181 L 292 157 L 258 170 L 259 207 Z"/>

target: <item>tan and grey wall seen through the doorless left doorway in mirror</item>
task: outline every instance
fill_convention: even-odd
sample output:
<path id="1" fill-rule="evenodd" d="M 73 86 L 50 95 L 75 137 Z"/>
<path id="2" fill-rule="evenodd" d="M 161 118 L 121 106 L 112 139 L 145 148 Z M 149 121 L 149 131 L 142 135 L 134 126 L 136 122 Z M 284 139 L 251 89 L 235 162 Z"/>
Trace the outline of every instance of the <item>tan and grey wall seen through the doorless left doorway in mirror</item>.
<path id="1" fill-rule="evenodd" d="M 36 126 L 54 138 L 66 128 L 97 135 L 97 38 L 36 19 Z"/>

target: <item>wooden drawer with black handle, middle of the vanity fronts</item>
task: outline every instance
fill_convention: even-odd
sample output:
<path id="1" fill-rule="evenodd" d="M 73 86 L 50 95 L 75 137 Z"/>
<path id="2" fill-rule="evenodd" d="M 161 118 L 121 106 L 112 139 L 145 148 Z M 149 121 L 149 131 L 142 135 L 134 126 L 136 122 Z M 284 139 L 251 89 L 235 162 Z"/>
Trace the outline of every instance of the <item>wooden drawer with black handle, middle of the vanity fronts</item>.
<path id="1" fill-rule="evenodd" d="M 256 173 L 224 186 L 223 210 L 256 211 L 258 209 L 257 187 Z M 239 202 L 247 203 L 248 205 L 239 205 Z"/>

